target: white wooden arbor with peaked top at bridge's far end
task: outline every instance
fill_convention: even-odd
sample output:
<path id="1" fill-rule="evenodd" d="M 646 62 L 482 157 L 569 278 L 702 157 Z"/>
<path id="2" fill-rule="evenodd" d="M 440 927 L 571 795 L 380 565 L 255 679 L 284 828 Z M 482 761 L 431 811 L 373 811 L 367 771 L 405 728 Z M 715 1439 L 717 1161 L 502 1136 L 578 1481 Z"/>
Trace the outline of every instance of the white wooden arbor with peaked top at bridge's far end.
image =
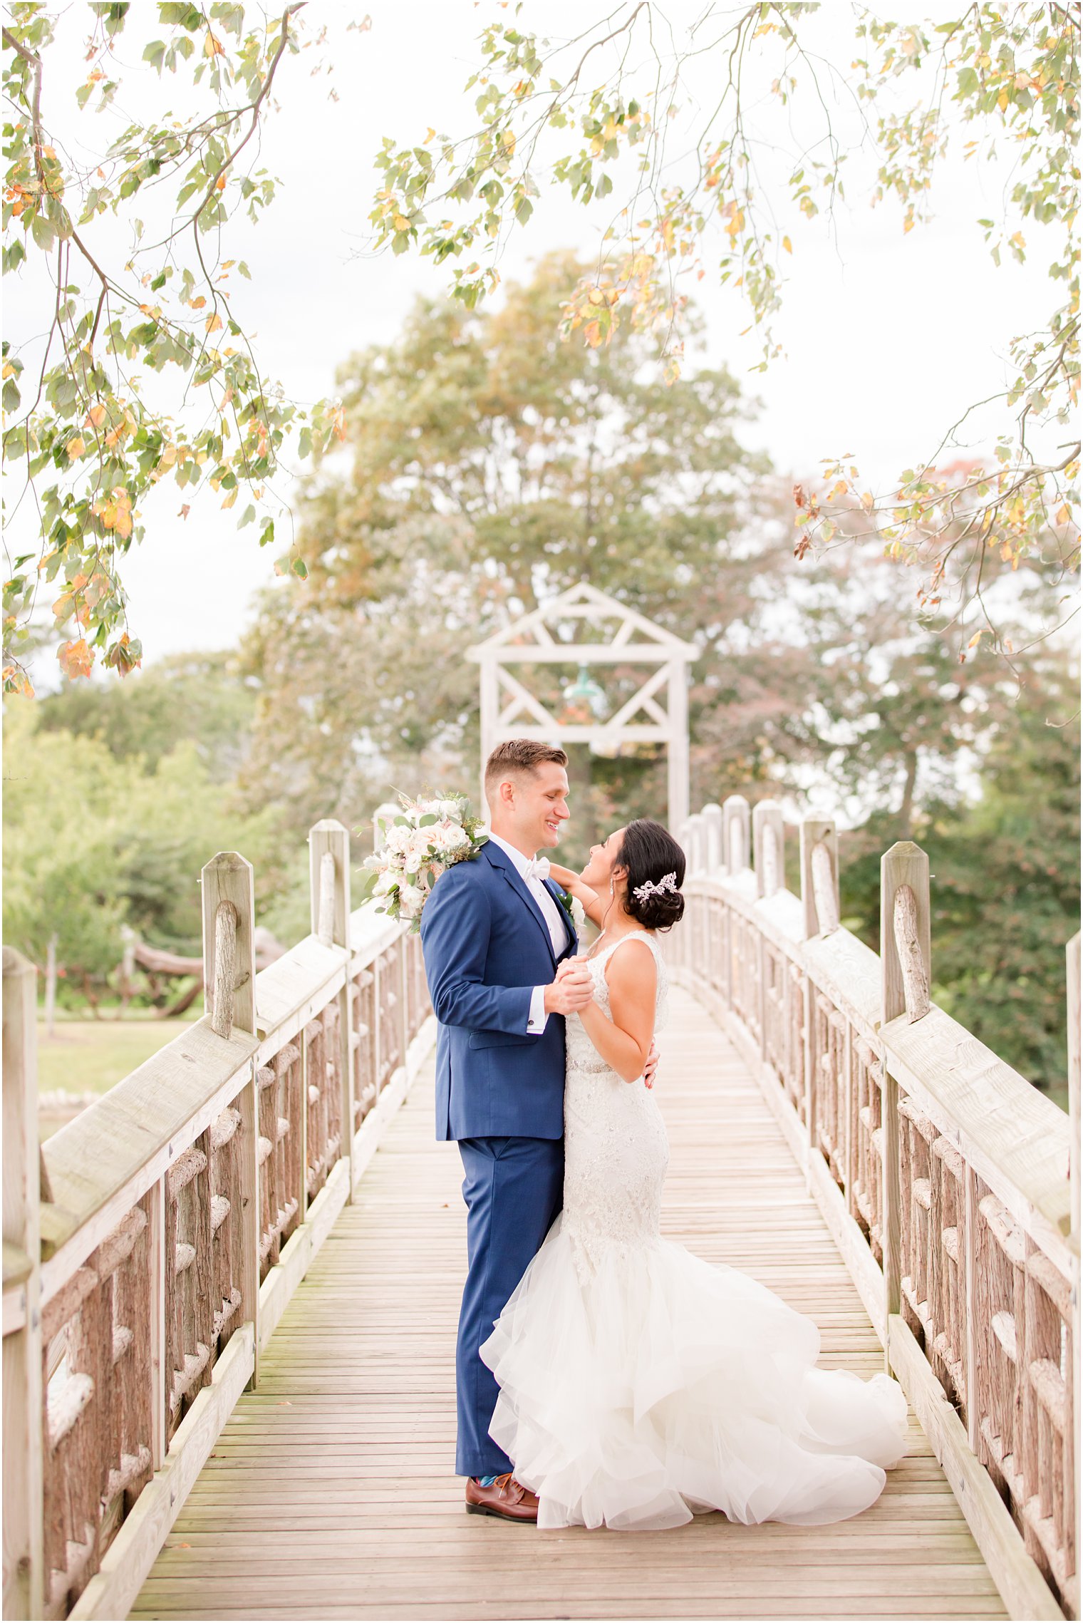
<path id="1" fill-rule="evenodd" d="M 605 635 L 582 641 L 577 622 Z M 571 636 L 571 639 L 567 639 Z M 580 581 L 559 597 L 522 615 L 503 631 L 467 649 L 482 667 L 482 771 L 504 738 L 542 738 L 546 743 L 665 743 L 668 753 L 668 818 L 678 829 L 689 807 L 687 779 L 687 667 L 697 657 L 683 643 L 626 604 Z M 530 691 L 520 665 L 647 665 L 642 683 L 621 708 L 593 721 L 563 721 Z"/>

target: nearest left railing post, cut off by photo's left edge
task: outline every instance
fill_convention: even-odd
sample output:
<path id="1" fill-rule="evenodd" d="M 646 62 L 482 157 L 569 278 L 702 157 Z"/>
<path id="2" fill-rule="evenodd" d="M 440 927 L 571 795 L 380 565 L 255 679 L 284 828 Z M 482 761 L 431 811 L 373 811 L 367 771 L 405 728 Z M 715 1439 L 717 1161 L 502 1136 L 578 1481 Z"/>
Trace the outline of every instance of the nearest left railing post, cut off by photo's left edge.
<path id="1" fill-rule="evenodd" d="M 37 971 L 3 949 L 3 1617 L 44 1617 Z M 10 1328 L 8 1328 L 10 1326 Z"/>

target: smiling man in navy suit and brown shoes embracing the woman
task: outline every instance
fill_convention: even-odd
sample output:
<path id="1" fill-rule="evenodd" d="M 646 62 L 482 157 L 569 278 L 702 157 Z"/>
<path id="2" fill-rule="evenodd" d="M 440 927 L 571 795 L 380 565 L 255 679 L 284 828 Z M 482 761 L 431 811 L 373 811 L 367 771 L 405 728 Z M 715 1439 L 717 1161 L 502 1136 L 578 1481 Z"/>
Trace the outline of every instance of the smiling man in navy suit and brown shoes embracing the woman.
<path id="1" fill-rule="evenodd" d="M 478 1347 L 561 1209 L 564 1016 L 585 1008 L 590 974 L 567 964 L 576 932 L 548 857 L 567 821 L 567 756 L 532 738 L 485 768 L 491 837 L 447 868 L 422 914 L 425 972 L 439 1021 L 436 1138 L 457 1139 L 465 1178 L 467 1282 L 459 1315 L 456 1470 L 467 1509 L 537 1521 L 488 1435 L 496 1380 Z"/>

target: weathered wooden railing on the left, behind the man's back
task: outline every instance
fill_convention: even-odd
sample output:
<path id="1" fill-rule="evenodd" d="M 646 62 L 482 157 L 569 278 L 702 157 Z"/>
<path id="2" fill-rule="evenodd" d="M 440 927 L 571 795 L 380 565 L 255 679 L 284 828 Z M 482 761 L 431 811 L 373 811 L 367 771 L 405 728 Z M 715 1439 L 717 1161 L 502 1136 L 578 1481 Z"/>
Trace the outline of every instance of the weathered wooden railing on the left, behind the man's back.
<path id="1" fill-rule="evenodd" d="M 253 872 L 203 870 L 208 1013 L 37 1147 L 36 972 L 3 956 L 3 1615 L 125 1617 L 433 1035 L 420 943 L 350 914 L 259 974 Z"/>

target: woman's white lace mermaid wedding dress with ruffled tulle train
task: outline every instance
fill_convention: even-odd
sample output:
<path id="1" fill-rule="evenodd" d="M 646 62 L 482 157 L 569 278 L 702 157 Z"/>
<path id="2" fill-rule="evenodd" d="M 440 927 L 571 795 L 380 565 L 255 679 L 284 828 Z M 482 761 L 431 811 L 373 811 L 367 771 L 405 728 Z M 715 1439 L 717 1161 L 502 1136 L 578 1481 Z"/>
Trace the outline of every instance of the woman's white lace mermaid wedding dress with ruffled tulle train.
<path id="1" fill-rule="evenodd" d="M 666 971 L 640 935 L 660 1029 Z M 619 945 L 590 959 L 606 1014 Z M 564 1211 L 482 1347 L 501 1386 L 490 1431 L 538 1495 L 538 1526 L 676 1527 L 707 1509 L 811 1524 L 872 1505 L 905 1451 L 901 1388 L 817 1370 L 811 1319 L 660 1237 L 661 1112 L 577 1016 L 564 1133 Z"/>

